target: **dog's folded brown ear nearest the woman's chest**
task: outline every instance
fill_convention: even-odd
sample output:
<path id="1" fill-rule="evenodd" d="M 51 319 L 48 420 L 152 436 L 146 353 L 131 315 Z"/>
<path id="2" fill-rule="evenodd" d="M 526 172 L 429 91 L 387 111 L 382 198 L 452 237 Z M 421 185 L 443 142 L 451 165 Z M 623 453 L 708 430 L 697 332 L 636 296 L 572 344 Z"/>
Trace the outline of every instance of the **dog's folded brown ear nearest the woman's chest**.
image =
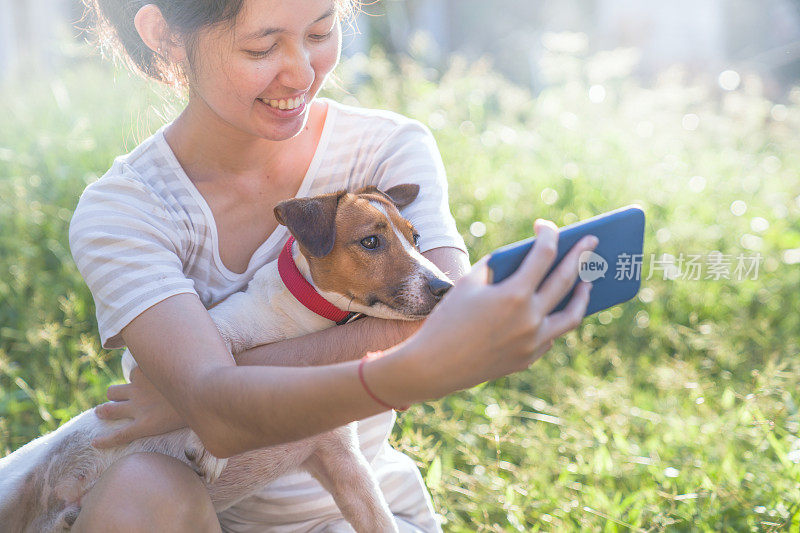
<path id="1" fill-rule="evenodd" d="M 275 206 L 275 219 L 289 228 L 297 242 L 314 257 L 324 257 L 336 241 L 336 208 L 340 193 L 292 198 Z"/>

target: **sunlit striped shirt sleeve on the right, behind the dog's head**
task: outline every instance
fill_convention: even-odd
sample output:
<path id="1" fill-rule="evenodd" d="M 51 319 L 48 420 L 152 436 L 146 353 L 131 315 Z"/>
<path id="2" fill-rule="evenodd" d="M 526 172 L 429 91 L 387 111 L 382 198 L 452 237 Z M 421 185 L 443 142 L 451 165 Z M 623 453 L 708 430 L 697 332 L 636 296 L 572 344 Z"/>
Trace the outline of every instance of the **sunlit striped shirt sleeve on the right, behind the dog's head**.
<path id="1" fill-rule="evenodd" d="M 467 251 L 447 199 L 447 175 L 436 140 L 421 122 L 398 125 L 376 154 L 372 184 L 387 190 L 401 183 L 420 186 L 416 200 L 401 210 L 419 233 L 425 252 L 450 246 Z"/>

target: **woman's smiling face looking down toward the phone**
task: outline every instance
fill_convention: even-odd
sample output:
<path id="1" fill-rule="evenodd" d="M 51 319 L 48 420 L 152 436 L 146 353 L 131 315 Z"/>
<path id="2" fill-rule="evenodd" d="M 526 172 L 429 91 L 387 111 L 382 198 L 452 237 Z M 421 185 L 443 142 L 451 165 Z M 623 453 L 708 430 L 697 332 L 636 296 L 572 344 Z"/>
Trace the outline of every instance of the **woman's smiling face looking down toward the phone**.
<path id="1" fill-rule="evenodd" d="M 339 61 L 341 37 L 333 0 L 245 0 L 232 28 L 198 35 L 189 105 L 256 137 L 294 137 Z"/>

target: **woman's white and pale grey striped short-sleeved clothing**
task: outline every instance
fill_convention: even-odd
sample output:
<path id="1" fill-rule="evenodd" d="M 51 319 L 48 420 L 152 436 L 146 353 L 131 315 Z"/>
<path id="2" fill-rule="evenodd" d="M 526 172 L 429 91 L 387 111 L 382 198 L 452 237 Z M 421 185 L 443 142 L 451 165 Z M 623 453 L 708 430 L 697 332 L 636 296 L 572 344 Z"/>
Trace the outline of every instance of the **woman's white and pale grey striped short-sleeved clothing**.
<path id="1" fill-rule="evenodd" d="M 420 249 L 466 251 L 450 214 L 444 166 L 430 131 L 396 113 L 324 101 L 322 135 L 297 196 L 417 183 L 418 198 L 401 213 L 420 234 Z M 226 268 L 211 209 L 166 142 L 167 126 L 116 158 L 83 192 L 70 223 L 70 248 L 94 297 L 105 348 L 122 347 L 120 330 L 170 296 L 197 294 L 208 308 L 243 290 L 259 268 L 277 258 L 288 238 L 286 227 L 278 226 L 245 272 Z M 132 364 L 126 350 L 126 379 Z M 388 445 L 393 423 L 393 412 L 359 422 L 364 455 L 379 473 L 393 512 L 426 531 L 436 530 L 419 471 Z M 340 517 L 316 480 L 297 473 L 274 481 L 221 518 L 229 531 L 288 532 L 310 531 Z"/>

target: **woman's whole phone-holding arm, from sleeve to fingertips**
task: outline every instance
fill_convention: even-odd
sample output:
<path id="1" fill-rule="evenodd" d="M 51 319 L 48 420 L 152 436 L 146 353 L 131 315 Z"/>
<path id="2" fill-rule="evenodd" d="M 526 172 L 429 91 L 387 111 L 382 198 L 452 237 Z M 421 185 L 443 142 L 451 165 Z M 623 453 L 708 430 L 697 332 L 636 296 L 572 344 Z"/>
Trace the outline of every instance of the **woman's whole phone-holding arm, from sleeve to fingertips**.
<path id="1" fill-rule="evenodd" d="M 542 283 L 555 258 L 557 234 L 552 224 L 539 229 L 537 246 L 515 274 L 491 285 L 482 261 L 416 335 L 365 365 L 373 393 L 392 405 L 441 397 L 527 367 L 553 338 L 575 328 L 588 303 L 588 284 L 563 311 L 548 313 L 571 291 L 579 254 L 594 248 L 596 239 L 580 241 Z M 219 457 L 297 440 L 383 410 L 361 386 L 355 361 L 237 367 L 196 295 L 150 307 L 122 335 L 142 372 Z"/>

